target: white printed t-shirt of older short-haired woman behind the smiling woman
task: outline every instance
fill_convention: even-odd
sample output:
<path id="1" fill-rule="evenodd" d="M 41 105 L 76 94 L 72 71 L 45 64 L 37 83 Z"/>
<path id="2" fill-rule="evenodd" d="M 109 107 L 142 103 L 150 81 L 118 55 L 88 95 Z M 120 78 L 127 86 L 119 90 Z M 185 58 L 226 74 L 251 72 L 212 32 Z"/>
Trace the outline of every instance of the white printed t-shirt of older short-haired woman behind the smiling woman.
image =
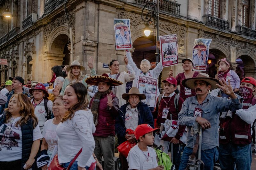
<path id="1" fill-rule="evenodd" d="M 54 118 L 53 118 L 54 119 Z M 56 133 L 57 124 L 53 124 L 53 119 L 50 119 L 44 123 L 43 137 L 48 144 L 47 154 L 51 158 L 54 147 L 58 146 L 58 137 Z"/>

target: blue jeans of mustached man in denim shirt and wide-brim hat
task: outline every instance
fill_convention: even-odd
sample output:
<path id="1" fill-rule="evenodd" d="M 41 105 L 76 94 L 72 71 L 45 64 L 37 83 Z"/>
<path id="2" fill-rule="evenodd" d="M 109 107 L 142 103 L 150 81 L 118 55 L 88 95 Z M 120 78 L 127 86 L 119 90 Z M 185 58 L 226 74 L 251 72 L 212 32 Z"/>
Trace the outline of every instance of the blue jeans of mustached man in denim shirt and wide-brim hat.
<path id="1" fill-rule="evenodd" d="M 187 167 L 189 156 L 192 154 L 193 148 L 188 148 L 185 146 L 179 170 L 184 170 Z M 202 150 L 201 160 L 204 162 L 205 170 L 213 170 L 214 163 L 218 160 L 219 152 L 217 146 L 212 149 Z M 198 158 L 198 152 L 196 153 L 196 158 Z M 222 169 L 221 169 L 222 170 Z"/>

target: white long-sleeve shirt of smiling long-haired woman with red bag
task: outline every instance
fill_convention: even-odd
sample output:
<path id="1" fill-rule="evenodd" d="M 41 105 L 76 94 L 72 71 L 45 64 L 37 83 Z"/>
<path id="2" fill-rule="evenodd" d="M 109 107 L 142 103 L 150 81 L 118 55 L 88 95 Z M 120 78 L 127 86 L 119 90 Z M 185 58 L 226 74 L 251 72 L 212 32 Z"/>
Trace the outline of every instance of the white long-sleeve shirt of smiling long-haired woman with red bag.
<path id="1" fill-rule="evenodd" d="M 82 152 L 76 159 L 77 165 L 85 167 L 89 160 L 93 159 L 92 152 L 95 148 L 92 133 L 95 132 L 93 115 L 91 110 L 76 111 L 71 119 L 60 122 L 56 132 L 58 139 L 58 159 L 59 163 L 68 163 L 79 152 Z"/>

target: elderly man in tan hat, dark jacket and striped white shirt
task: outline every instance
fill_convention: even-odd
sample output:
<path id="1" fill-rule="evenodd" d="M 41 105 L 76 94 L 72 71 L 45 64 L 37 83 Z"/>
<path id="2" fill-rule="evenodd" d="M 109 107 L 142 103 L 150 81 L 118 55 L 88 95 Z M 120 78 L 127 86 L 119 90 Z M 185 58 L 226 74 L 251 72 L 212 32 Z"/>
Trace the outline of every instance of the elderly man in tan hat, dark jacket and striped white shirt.
<path id="1" fill-rule="evenodd" d="M 140 102 L 140 100 L 146 99 L 145 94 L 140 94 L 137 87 L 132 87 L 129 93 L 124 93 L 122 98 L 127 101 L 119 109 L 119 114 L 116 117 L 116 133 L 118 137 L 118 144 L 122 144 L 124 141 L 135 142 L 134 135 L 126 133 L 126 129 L 135 130 L 138 125 L 147 123 L 151 127 L 154 127 L 154 120 L 152 113 L 148 105 Z M 122 169 L 127 170 L 128 164 L 126 158 L 120 154 L 119 159 L 122 164 Z"/>

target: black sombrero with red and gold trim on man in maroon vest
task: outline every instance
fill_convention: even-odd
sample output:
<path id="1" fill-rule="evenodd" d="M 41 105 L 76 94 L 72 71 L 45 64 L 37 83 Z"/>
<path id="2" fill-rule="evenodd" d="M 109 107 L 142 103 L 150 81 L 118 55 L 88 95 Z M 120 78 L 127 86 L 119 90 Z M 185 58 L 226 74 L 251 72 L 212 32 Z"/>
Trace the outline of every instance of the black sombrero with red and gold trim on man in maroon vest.
<path id="1" fill-rule="evenodd" d="M 122 85 L 123 82 L 114 78 L 108 77 L 108 74 L 102 74 L 102 76 L 91 76 L 84 80 L 88 85 L 98 85 L 100 82 L 109 83 L 111 86 Z"/>

